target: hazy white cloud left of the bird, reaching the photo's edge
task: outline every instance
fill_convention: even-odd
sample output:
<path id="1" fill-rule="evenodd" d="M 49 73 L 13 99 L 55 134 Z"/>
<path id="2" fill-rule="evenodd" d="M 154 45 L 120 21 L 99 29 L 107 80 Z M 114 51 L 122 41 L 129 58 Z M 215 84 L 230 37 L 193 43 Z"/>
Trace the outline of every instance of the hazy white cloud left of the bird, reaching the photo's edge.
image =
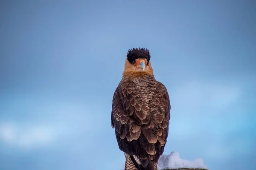
<path id="1" fill-rule="evenodd" d="M 29 108 L 26 111 L 27 115 L 23 116 L 25 122 L 19 119 L 0 121 L 0 143 L 12 147 L 34 149 L 52 145 L 61 139 L 75 141 L 81 137 L 81 133 L 85 132 L 87 138 L 96 136 L 102 126 L 108 123 L 104 121 L 104 116 L 98 114 L 103 112 L 99 106 L 90 105 L 91 108 L 98 109 L 94 111 L 82 102 L 62 100 L 53 102 L 32 98 L 17 99 L 17 102 L 12 103 L 14 107 L 6 109 L 9 111 L 6 115 L 22 111 L 20 103 Z M 29 115 L 33 115 L 33 118 L 31 119 Z M 84 143 L 90 142 L 87 139 L 83 140 Z"/>

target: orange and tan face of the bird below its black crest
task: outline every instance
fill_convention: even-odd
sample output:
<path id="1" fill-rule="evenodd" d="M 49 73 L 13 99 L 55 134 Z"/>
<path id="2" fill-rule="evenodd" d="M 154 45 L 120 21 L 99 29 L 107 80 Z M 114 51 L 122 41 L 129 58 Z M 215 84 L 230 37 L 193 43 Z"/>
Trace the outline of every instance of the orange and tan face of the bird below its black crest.
<path id="1" fill-rule="evenodd" d="M 141 62 L 145 62 L 145 70 L 143 71 L 140 68 Z M 123 76 L 125 77 L 137 77 L 143 75 L 153 75 L 153 68 L 150 62 L 147 62 L 147 59 L 138 58 L 135 60 L 135 63 L 132 64 L 127 59 L 125 60 L 125 69 L 123 71 Z"/>

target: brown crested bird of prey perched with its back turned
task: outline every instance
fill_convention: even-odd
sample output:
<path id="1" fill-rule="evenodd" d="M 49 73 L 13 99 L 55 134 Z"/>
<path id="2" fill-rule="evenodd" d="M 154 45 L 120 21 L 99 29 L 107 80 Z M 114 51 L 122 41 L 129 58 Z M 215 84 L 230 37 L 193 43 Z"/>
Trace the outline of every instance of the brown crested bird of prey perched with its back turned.
<path id="1" fill-rule="evenodd" d="M 150 58 L 147 48 L 129 49 L 113 94 L 111 126 L 125 155 L 125 170 L 157 170 L 167 142 L 169 94 L 155 79 Z"/>

